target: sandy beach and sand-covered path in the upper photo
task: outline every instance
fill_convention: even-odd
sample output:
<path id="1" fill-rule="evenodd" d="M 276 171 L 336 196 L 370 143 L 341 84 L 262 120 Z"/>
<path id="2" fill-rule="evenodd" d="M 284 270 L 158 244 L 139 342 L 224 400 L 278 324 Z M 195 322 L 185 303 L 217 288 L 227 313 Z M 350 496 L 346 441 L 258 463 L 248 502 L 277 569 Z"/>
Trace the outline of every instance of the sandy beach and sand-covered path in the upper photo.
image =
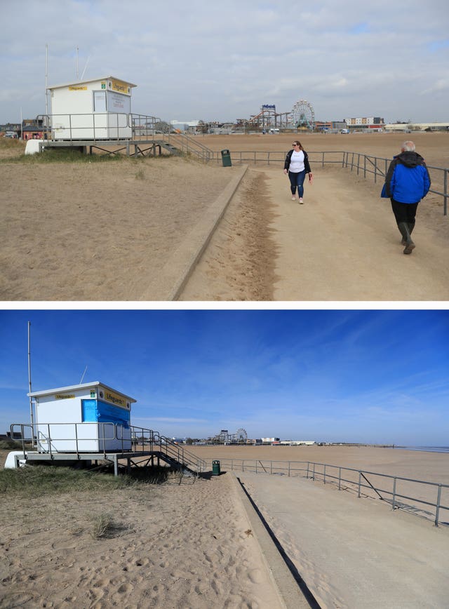
<path id="1" fill-rule="evenodd" d="M 389 159 L 405 137 L 314 134 L 302 143 L 309 153 Z M 429 166 L 449 166 L 447 133 L 407 137 Z M 196 138 L 217 152 L 285 153 L 291 135 Z M 3 163 L 1 299 L 152 300 L 148 286 L 238 170 L 179 158 Z M 448 299 L 441 197 L 420 204 L 417 248 L 405 257 L 379 184 L 335 167 L 314 166 L 314 173 L 300 209 L 281 166 L 250 166 L 180 300 Z M 437 186 L 441 178 L 432 178 Z"/>

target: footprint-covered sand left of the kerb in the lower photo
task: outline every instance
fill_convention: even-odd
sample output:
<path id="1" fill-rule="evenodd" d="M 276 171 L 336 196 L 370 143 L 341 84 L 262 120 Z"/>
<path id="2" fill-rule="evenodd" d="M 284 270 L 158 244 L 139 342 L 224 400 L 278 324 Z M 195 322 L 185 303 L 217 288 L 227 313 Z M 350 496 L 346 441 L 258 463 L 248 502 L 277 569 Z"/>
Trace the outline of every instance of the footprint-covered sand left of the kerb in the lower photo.
<path id="1" fill-rule="evenodd" d="M 111 535 L 93 539 L 92 518 Z M 0 607 L 281 609 L 229 476 L 0 499 Z"/>

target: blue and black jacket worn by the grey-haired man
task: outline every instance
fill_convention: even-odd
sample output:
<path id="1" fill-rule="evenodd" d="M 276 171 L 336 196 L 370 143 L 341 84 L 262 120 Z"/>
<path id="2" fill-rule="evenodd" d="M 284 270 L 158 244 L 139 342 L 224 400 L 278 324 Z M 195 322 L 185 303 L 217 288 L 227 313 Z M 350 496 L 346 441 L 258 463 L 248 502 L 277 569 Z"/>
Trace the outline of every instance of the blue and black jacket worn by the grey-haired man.
<path id="1" fill-rule="evenodd" d="M 399 203 L 419 203 L 430 188 L 430 175 L 417 152 L 401 152 L 391 161 L 385 178 L 385 194 Z"/>

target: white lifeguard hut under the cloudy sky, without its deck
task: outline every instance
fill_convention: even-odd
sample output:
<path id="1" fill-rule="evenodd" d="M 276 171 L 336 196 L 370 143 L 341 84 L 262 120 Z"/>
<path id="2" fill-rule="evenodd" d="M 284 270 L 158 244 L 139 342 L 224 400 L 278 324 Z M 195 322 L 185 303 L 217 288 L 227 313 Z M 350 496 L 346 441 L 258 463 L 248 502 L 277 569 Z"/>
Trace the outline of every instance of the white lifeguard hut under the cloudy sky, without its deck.
<path id="1" fill-rule="evenodd" d="M 115 76 L 102 76 L 48 87 L 52 139 L 130 139 L 131 91 L 135 86 Z"/>

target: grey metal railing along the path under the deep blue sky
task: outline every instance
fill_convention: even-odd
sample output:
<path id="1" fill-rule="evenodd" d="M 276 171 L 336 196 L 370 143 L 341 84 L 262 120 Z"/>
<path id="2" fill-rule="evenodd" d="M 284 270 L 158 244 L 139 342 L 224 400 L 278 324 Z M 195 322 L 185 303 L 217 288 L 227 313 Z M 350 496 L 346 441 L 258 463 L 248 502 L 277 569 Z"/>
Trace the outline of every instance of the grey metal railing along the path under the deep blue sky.
<path id="1" fill-rule="evenodd" d="M 210 460 L 208 460 L 210 461 Z M 389 495 L 389 499 L 386 499 L 384 496 L 381 497 L 381 500 L 391 503 L 391 509 L 414 509 L 414 513 L 420 511 L 420 515 L 422 513 L 428 514 L 424 508 L 420 506 L 432 507 L 435 510 L 434 514 L 434 524 L 438 526 L 438 524 L 443 524 L 443 526 L 449 526 L 449 522 L 442 521 L 440 518 L 441 510 L 449 511 L 449 502 L 448 504 L 443 504 L 442 490 L 448 489 L 445 491 L 445 494 L 449 500 L 449 484 L 442 484 L 437 482 L 430 482 L 426 480 L 417 480 L 415 478 L 405 478 L 403 476 L 391 476 L 389 474 L 380 474 L 375 471 L 368 471 L 365 469 L 354 469 L 351 467 L 342 467 L 340 465 L 333 465 L 328 463 L 319 463 L 312 461 L 270 461 L 270 460 L 246 460 L 246 459 L 225 459 L 221 461 L 222 469 L 231 469 L 232 471 L 252 471 L 255 474 L 261 474 L 262 471 L 264 474 L 281 474 L 287 476 L 302 476 L 303 478 L 310 478 L 313 481 L 322 480 L 324 484 L 333 483 L 338 485 L 338 490 L 342 490 L 342 483 L 346 483 L 347 485 L 352 485 L 353 488 L 357 492 L 357 496 L 360 498 L 362 496 L 362 489 L 373 490 L 377 496 L 381 495 Z M 295 467 L 297 466 L 297 467 Z M 317 469 L 318 468 L 318 469 Z M 322 468 L 321 470 L 319 468 Z M 338 474 L 332 474 L 329 472 L 328 468 L 334 468 L 338 470 Z M 357 474 L 353 479 L 344 478 L 342 476 L 342 472 L 354 472 Z M 349 476 L 349 474 L 345 474 Z M 381 488 L 380 485 L 373 484 L 373 481 L 369 481 L 366 476 L 379 476 L 380 478 L 389 481 L 391 483 L 391 488 Z M 363 482 L 363 478 L 365 478 L 366 483 Z M 398 483 L 401 483 L 405 490 L 398 489 Z M 431 501 L 429 497 L 422 493 L 420 497 L 413 497 L 407 491 L 407 484 L 418 484 L 422 485 L 424 488 L 431 488 L 436 490 L 436 500 Z M 399 492 L 401 490 L 401 492 Z M 366 494 L 366 496 L 372 496 Z M 399 502 L 399 500 L 407 500 L 413 502 L 414 505 L 405 504 Z"/>

